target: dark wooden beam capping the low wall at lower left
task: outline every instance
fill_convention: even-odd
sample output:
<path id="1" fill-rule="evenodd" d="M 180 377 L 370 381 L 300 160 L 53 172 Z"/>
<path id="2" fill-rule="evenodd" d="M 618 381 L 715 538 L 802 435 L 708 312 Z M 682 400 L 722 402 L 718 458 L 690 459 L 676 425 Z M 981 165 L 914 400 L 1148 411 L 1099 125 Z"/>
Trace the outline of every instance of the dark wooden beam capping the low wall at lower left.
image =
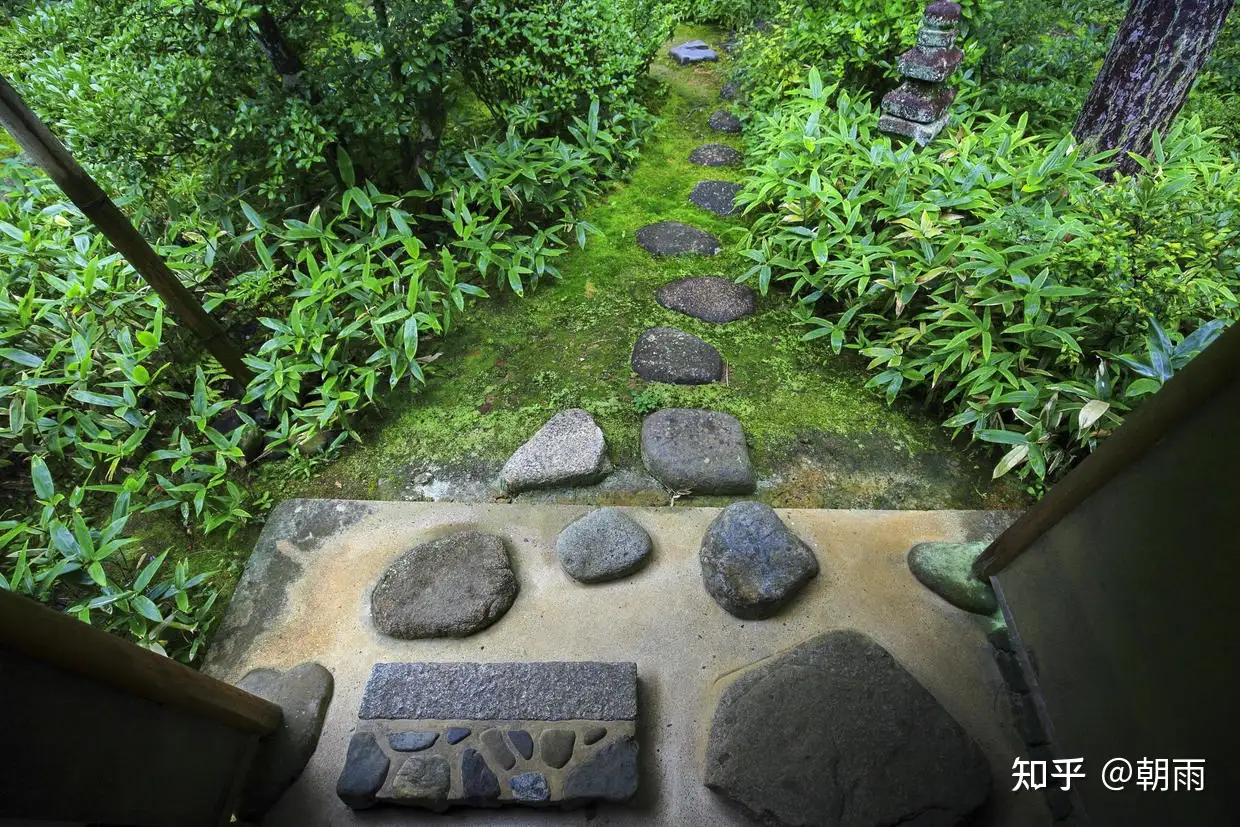
<path id="1" fill-rule="evenodd" d="M 262 736 L 280 725 L 283 713 L 269 701 L 2 590 L 0 647 L 242 733 Z"/>

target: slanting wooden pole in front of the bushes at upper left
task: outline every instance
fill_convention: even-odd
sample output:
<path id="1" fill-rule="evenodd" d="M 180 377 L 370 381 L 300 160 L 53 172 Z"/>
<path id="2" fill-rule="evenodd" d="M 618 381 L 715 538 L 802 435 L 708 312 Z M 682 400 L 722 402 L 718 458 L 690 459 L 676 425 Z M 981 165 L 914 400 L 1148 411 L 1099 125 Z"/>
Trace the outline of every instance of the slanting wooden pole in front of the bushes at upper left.
<path id="1" fill-rule="evenodd" d="M 181 284 L 159 253 L 151 249 L 120 207 L 113 203 L 94 179 L 73 160 L 56 135 L 30 110 L 2 74 L 0 74 L 0 123 L 26 155 L 51 176 L 77 208 L 160 295 L 177 321 L 202 340 L 229 376 L 243 386 L 249 384 L 254 373 L 242 360 L 241 348 L 228 338 L 219 322 L 203 309 L 188 288 Z"/>

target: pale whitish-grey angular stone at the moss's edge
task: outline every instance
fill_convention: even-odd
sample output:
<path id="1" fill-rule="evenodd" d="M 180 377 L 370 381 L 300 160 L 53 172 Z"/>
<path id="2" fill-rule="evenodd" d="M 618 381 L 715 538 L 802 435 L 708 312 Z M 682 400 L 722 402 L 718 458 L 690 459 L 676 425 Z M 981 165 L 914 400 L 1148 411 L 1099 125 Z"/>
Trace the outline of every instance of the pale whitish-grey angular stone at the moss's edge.
<path id="1" fill-rule="evenodd" d="M 594 485 L 611 472 L 608 445 L 594 418 L 580 408 L 562 410 L 503 465 L 508 493 L 532 489 Z"/>

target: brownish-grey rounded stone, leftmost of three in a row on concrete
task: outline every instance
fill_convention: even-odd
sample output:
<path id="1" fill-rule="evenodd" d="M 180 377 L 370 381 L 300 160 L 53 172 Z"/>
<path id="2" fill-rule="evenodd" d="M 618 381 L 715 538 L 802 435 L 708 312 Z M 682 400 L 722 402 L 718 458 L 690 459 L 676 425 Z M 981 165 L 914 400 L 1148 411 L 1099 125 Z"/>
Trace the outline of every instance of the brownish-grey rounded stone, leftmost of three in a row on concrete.
<path id="1" fill-rule="evenodd" d="M 502 617 L 516 596 L 503 541 L 463 531 L 397 558 L 371 594 L 371 619 L 392 637 L 464 637 Z"/>

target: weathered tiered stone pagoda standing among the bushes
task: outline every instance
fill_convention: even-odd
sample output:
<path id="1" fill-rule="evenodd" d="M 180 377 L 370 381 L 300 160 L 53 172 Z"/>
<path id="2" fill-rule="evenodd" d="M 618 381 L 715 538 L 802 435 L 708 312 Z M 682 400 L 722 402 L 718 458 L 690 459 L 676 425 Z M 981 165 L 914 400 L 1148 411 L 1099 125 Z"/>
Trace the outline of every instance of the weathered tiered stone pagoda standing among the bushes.
<path id="1" fill-rule="evenodd" d="M 939 0 L 926 7 L 918 45 L 900 55 L 905 79 L 883 98 L 879 129 L 925 146 L 947 125 L 956 89 L 946 81 L 965 57 L 955 46 L 959 29 L 960 4 Z"/>

